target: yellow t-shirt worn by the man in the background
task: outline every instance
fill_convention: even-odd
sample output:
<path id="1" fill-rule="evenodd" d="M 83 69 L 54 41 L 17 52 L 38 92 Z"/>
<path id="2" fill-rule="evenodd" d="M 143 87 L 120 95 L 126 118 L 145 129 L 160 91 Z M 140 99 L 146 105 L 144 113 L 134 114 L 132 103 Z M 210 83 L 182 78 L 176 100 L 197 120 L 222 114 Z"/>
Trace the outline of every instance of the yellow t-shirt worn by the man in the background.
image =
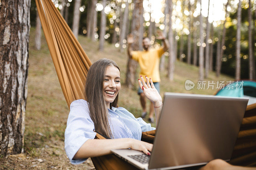
<path id="1" fill-rule="evenodd" d="M 153 82 L 160 82 L 159 62 L 160 57 L 164 54 L 164 47 L 148 51 L 132 51 L 131 54 L 132 59 L 140 64 L 140 75 L 145 81 L 145 75 L 147 75 Z"/>

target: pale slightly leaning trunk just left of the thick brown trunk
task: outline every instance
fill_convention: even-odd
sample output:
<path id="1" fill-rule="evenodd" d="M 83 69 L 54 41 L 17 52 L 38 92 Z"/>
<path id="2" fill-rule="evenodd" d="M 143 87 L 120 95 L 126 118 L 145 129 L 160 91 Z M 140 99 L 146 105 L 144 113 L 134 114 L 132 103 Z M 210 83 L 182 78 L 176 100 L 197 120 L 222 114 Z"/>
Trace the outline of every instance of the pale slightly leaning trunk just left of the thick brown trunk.
<path id="1" fill-rule="evenodd" d="M 124 17 L 123 17 L 123 22 L 122 22 L 122 27 L 121 27 L 121 33 L 120 33 L 120 38 L 119 38 L 119 44 L 120 44 L 120 51 L 123 52 L 124 48 L 124 40 L 126 39 L 125 33 L 126 33 L 126 26 L 127 26 L 127 21 L 128 21 L 128 15 L 129 15 L 129 3 L 126 1 L 125 3 L 125 9 L 124 9 Z"/>

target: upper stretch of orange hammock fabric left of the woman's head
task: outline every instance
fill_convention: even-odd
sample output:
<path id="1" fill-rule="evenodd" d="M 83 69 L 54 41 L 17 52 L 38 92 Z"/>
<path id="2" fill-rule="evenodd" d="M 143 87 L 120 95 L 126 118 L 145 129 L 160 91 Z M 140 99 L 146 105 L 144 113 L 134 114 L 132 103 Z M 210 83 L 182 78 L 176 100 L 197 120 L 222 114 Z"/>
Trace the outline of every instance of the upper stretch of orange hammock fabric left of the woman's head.
<path id="1" fill-rule="evenodd" d="M 36 0 L 36 6 L 69 108 L 72 101 L 84 99 L 84 85 L 92 63 L 52 1 Z"/>

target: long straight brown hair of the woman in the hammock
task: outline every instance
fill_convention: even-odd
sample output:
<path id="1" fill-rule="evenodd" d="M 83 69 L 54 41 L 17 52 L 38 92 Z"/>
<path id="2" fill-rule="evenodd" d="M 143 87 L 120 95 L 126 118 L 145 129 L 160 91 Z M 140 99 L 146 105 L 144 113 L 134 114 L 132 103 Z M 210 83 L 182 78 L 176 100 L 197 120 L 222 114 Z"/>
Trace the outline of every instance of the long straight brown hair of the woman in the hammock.
<path id="1" fill-rule="evenodd" d="M 107 58 L 102 58 L 91 65 L 86 78 L 84 95 L 89 103 L 90 116 L 95 130 L 107 137 L 112 137 L 108 122 L 108 108 L 103 97 L 103 81 L 108 66 L 115 66 L 120 71 L 116 62 Z M 117 101 L 118 94 L 113 103 L 110 103 L 110 109 L 112 106 L 117 106 Z"/>

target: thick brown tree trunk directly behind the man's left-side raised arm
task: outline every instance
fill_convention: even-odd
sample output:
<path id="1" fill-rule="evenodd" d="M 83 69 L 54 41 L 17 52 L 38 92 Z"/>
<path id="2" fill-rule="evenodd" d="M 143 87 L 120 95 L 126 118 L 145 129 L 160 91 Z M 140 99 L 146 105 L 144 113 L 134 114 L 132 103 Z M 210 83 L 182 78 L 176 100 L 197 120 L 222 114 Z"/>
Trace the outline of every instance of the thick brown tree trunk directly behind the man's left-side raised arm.
<path id="1" fill-rule="evenodd" d="M 133 50 L 139 50 L 139 37 L 140 37 L 140 27 L 141 27 L 141 16 L 143 15 L 143 0 L 134 1 L 134 11 L 132 13 L 132 35 L 134 37 L 134 43 L 132 44 Z M 128 88 L 132 88 L 135 80 L 135 71 L 137 67 L 137 62 L 128 57 L 127 70 L 126 70 L 126 80 L 125 83 Z"/>

